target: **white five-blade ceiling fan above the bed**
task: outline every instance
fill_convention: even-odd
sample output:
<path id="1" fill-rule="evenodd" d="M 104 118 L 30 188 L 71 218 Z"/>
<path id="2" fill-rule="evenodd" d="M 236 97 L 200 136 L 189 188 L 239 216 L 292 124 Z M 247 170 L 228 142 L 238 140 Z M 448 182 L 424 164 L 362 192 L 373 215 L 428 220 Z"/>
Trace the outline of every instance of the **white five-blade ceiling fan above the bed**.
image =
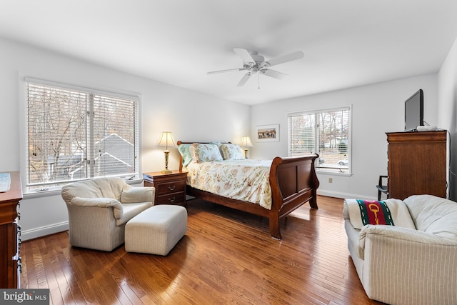
<path id="1" fill-rule="evenodd" d="M 241 80 L 238 82 L 237 86 L 243 86 L 246 84 L 246 81 L 253 75 L 253 74 L 264 74 L 266 76 L 273 77 L 275 79 L 284 79 L 287 74 L 283 74 L 281 72 L 275 71 L 270 69 L 271 66 L 276 66 L 277 64 L 283 64 L 288 61 L 294 61 L 296 59 L 303 58 L 302 51 L 296 51 L 291 54 L 286 54 L 283 56 L 278 56 L 273 59 L 265 60 L 263 56 L 259 55 L 257 51 L 248 51 L 246 49 L 235 48 L 233 49 L 238 56 L 243 59 L 243 68 L 238 69 L 226 69 L 226 70 L 219 70 L 219 71 L 210 71 L 207 74 L 217 74 L 217 73 L 224 73 L 224 72 L 231 72 L 231 71 L 248 71 Z"/>

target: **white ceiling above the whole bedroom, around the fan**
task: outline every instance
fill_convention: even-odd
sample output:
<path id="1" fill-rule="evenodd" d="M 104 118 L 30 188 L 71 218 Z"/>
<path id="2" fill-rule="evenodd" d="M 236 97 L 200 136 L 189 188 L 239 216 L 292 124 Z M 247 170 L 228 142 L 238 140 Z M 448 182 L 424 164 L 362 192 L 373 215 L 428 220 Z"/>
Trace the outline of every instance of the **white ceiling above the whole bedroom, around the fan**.
<path id="1" fill-rule="evenodd" d="M 456 0 L 1 0 L 0 37 L 244 104 L 435 73 L 457 36 Z M 233 48 L 285 80 L 246 71 Z M 258 89 L 260 84 L 260 89 Z"/>

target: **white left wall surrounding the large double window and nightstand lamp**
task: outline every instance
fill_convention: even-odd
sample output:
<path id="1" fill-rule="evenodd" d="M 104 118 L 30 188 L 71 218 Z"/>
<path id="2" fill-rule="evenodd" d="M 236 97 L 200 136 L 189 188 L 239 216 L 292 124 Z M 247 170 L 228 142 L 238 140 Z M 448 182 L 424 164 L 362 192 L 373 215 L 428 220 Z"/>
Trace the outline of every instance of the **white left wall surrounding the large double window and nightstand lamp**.
<path id="1" fill-rule="evenodd" d="M 24 175 L 23 76 L 141 94 L 141 172 L 164 168 L 164 153 L 155 147 L 161 131 L 172 131 L 176 141 L 239 141 L 251 128 L 250 106 L 0 39 L 0 171 Z M 169 168 L 178 169 L 178 160 L 179 152 L 172 149 Z M 67 221 L 59 192 L 24 194 L 20 221 L 24 240 L 62 231 Z"/>

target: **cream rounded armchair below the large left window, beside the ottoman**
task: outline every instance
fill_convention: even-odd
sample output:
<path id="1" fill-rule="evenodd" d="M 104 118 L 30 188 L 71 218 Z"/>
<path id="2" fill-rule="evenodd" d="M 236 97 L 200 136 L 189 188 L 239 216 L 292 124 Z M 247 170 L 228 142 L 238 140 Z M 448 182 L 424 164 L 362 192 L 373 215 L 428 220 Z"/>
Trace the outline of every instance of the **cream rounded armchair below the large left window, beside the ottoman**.
<path id="1" fill-rule="evenodd" d="M 70 244 L 102 251 L 123 244 L 126 222 L 154 206 L 154 192 L 154 187 L 133 187 L 117 177 L 64 186 Z"/>

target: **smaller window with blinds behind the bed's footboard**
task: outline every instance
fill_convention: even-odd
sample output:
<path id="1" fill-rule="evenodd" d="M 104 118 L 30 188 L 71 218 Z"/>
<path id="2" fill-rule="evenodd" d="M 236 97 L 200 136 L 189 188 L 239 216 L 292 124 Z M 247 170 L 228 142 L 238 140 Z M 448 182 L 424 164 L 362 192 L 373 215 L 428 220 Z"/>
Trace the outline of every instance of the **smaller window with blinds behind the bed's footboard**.
<path id="1" fill-rule="evenodd" d="M 348 173 L 350 114 L 349 107 L 288 114 L 289 156 L 316 153 L 316 169 Z"/>

